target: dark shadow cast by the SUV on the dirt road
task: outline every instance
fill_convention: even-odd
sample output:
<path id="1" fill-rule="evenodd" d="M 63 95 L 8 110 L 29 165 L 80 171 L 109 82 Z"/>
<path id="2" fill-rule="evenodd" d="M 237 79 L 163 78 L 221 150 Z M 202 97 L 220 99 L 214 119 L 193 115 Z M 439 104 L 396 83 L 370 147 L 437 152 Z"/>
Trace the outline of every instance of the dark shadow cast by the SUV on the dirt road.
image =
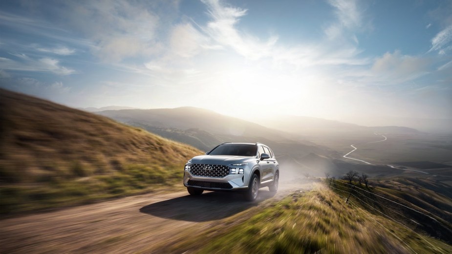
<path id="1" fill-rule="evenodd" d="M 270 191 L 259 190 L 258 199 L 248 202 L 241 193 L 213 191 L 200 196 L 186 195 L 153 203 L 140 208 L 140 212 L 174 220 L 203 222 L 245 211 L 274 195 Z"/>

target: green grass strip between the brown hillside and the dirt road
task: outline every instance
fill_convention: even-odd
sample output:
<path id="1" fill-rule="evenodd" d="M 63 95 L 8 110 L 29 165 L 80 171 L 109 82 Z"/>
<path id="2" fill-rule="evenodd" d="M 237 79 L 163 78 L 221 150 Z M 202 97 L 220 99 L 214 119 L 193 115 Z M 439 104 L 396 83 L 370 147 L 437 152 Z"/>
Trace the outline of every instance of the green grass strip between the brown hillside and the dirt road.
<path id="1" fill-rule="evenodd" d="M 76 172 L 83 171 L 77 169 Z M 182 173 L 180 167 L 131 164 L 121 171 L 104 175 L 77 178 L 42 176 L 37 183 L 1 185 L 0 214 L 14 215 L 151 192 L 159 187 L 181 185 Z"/>

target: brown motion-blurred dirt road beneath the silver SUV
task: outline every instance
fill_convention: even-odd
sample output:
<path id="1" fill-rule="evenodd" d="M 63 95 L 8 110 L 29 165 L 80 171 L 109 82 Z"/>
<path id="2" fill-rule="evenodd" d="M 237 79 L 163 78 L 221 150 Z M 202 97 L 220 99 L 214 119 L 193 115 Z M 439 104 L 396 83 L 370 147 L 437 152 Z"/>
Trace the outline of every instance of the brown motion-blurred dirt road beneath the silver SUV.
<path id="1" fill-rule="evenodd" d="M 243 201 L 239 193 L 207 192 L 194 197 L 186 191 L 161 192 L 3 219 L 0 252 L 149 253 L 190 227 L 202 229 L 239 212 L 256 211 L 252 208 L 266 200 L 308 190 L 312 183 L 281 183 L 280 187 L 284 189 L 276 195 L 260 189 L 252 203 Z"/>

